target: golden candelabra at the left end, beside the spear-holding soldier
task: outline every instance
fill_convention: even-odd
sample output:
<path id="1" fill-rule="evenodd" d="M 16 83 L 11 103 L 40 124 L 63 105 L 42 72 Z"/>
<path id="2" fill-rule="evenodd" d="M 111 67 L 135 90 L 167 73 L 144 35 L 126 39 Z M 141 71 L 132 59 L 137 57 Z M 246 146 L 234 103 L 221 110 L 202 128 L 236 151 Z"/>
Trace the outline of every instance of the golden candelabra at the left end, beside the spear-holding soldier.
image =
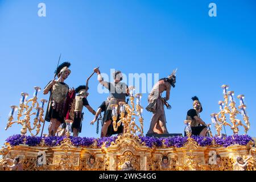
<path id="1" fill-rule="evenodd" d="M 11 113 L 8 118 L 7 126 L 5 130 L 11 127 L 14 123 L 18 123 L 18 125 L 22 125 L 22 129 L 20 130 L 20 134 L 26 135 L 27 130 L 30 132 L 32 136 L 36 136 L 39 134 L 41 122 L 44 122 L 43 113 L 44 113 L 44 104 L 46 104 L 47 100 L 41 99 L 42 105 L 39 106 L 38 102 L 38 92 L 41 90 L 39 86 L 35 86 L 34 96 L 29 100 L 26 100 L 28 97 L 28 93 L 21 93 L 22 98 L 20 99 L 20 104 L 18 106 L 11 106 Z M 18 110 L 17 120 L 14 121 L 14 113 Z M 33 112 L 32 110 L 36 110 Z M 31 116 L 36 115 L 34 118 L 34 122 L 31 127 Z M 36 130 L 36 134 L 33 134 L 32 131 Z"/>

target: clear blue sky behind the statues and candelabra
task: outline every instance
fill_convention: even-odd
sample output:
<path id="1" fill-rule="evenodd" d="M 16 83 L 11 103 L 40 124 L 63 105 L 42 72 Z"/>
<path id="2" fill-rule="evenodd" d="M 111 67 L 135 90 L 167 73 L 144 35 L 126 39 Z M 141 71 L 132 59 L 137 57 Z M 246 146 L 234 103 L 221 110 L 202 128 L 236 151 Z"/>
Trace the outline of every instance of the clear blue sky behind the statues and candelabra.
<path id="1" fill-rule="evenodd" d="M 46 17 L 38 16 L 40 2 L 46 3 Z M 217 17 L 208 15 L 210 2 L 217 5 Z M 9 106 L 19 104 L 20 92 L 32 95 L 34 86 L 44 88 L 52 80 L 60 53 L 61 61 L 72 63 L 67 80 L 71 87 L 84 84 L 98 65 L 105 73 L 115 68 L 160 77 L 178 68 L 172 109 L 166 110 L 170 133 L 183 133 L 195 95 L 203 104 L 201 118 L 210 123 L 210 114 L 218 111 L 222 99 L 220 86 L 228 84 L 236 95 L 245 94 L 249 135 L 255 137 L 255 5 L 253 0 L 0 0 L 0 143 L 21 129 L 13 125 L 4 130 Z M 97 84 L 93 76 L 88 101 L 95 110 L 108 96 L 97 93 Z M 42 92 L 39 97 L 48 99 Z M 142 105 L 147 105 L 147 94 Z M 89 125 L 93 115 L 84 112 L 80 136 L 98 137 L 96 125 Z M 151 113 L 143 116 L 146 133 Z"/>

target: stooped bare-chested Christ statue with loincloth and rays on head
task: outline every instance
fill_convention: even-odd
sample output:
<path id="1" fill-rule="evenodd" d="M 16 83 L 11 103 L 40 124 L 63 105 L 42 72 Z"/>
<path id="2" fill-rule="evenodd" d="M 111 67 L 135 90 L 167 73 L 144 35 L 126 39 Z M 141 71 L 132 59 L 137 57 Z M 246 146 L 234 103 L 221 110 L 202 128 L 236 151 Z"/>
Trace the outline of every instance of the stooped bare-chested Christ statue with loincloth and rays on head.
<path id="1" fill-rule="evenodd" d="M 167 78 L 160 79 L 152 88 L 151 93 L 148 96 L 147 111 L 153 113 L 150 123 L 150 129 L 147 134 L 168 134 L 166 127 L 166 114 L 164 112 L 164 105 L 167 109 L 171 109 L 168 104 L 170 99 L 171 87 L 175 87 L 176 83 L 176 71 L 172 72 Z M 162 98 L 162 93 L 166 91 L 166 97 Z"/>

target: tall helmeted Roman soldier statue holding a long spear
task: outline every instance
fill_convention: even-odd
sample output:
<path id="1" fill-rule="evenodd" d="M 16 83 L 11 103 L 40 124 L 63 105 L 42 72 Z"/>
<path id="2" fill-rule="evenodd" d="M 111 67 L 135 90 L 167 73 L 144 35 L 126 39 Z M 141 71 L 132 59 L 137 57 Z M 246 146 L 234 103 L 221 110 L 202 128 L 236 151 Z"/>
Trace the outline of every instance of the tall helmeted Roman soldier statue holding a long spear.
<path id="1" fill-rule="evenodd" d="M 48 92 L 51 93 L 46 112 L 46 121 L 50 122 L 48 127 L 49 136 L 54 136 L 61 123 L 64 123 L 64 107 L 69 92 L 69 87 L 64 81 L 71 73 L 69 69 L 70 65 L 71 64 L 68 62 L 59 65 L 55 71 L 58 79 L 53 79 L 48 83 L 46 88 L 44 88 L 44 94 L 48 94 Z"/>

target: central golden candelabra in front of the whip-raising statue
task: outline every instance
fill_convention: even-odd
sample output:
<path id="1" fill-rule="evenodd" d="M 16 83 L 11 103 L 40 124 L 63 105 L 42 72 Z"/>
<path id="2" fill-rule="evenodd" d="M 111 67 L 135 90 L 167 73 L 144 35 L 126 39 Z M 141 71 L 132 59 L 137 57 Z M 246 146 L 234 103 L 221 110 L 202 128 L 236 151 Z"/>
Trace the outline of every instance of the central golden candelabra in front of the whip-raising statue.
<path id="1" fill-rule="evenodd" d="M 112 104 L 110 107 L 112 108 L 112 119 L 113 119 L 113 128 L 114 131 L 117 131 L 118 127 L 123 123 L 123 133 L 136 134 L 137 132 L 143 134 L 143 107 L 141 106 L 141 97 L 142 94 L 135 94 L 133 86 L 129 87 L 130 90 L 130 103 L 126 104 L 126 102 L 119 102 L 117 104 Z M 137 105 L 134 104 L 134 99 L 137 98 Z M 119 118 L 118 118 L 119 113 Z M 140 127 L 136 124 L 135 116 L 139 117 Z M 117 119 L 119 121 L 117 122 Z"/>

